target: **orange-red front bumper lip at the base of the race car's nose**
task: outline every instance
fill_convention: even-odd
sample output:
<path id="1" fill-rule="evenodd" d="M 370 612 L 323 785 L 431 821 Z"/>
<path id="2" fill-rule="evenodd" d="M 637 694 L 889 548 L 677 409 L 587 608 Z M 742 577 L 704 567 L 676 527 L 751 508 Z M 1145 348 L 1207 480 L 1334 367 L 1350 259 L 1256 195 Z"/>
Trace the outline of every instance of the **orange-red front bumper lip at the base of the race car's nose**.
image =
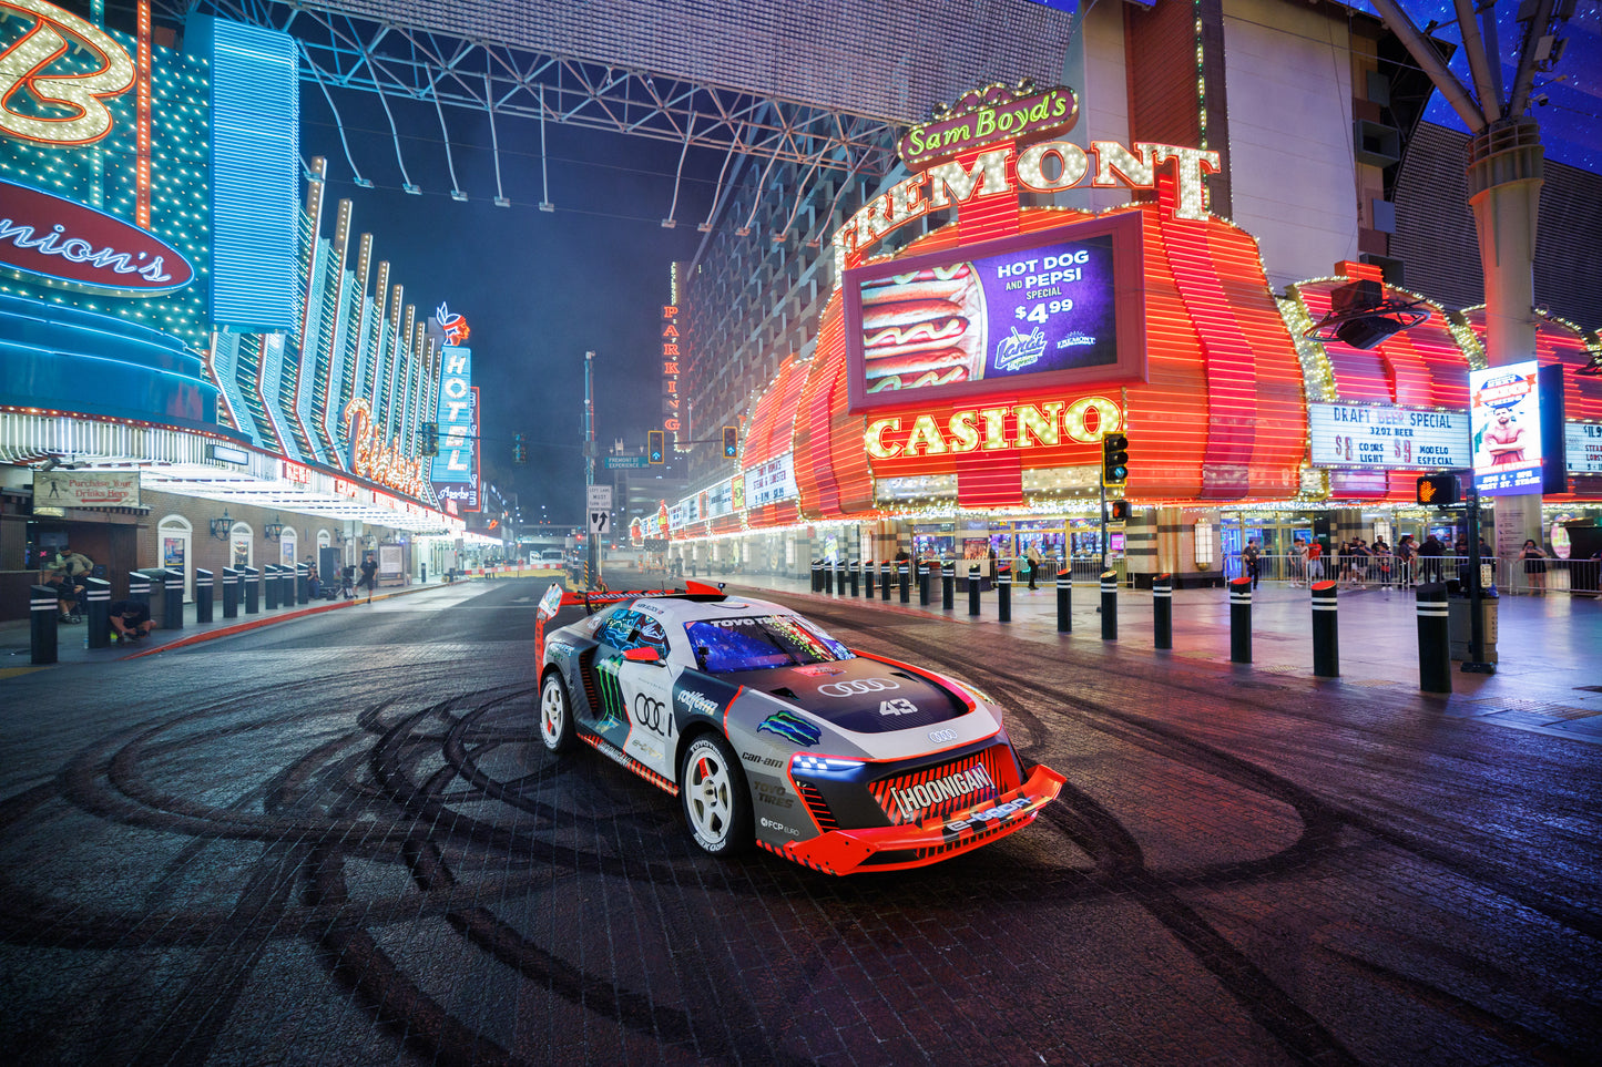
<path id="1" fill-rule="evenodd" d="M 1016 790 L 945 819 L 900 827 L 828 830 L 807 841 L 791 841 L 782 848 L 764 844 L 764 848 L 830 875 L 926 867 L 1022 830 L 1035 822 L 1041 807 L 1057 799 L 1064 782 L 1067 779 L 1051 767 L 1036 766 L 1028 780 Z"/>

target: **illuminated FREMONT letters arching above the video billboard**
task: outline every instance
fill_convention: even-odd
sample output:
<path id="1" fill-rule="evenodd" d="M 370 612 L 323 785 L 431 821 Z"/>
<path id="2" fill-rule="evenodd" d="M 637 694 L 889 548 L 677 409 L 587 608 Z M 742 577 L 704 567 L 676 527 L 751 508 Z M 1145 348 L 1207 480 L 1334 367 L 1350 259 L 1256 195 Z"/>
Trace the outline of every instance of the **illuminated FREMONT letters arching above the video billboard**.
<path id="1" fill-rule="evenodd" d="M 1094 167 L 1091 155 L 1096 157 Z M 1016 167 L 1009 167 L 1016 163 Z M 1048 176 L 1048 163 L 1056 178 Z M 1174 218 L 1205 219 L 1206 195 L 1202 179 L 1219 170 L 1219 154 L 1206 149 L 1137 141 L 1134 151 L 1117 141 L 1091 141 L 1089 152 L 1072 141 L 1043 141 L 1022 152 L 1016 144 L 979 152 L 969 168 L 952 160 L 931 167 L 873 197 L 835 232 L 835 277 L 859 261 L 886 236 L 929 211 L 960 207 L 984 197 L 1030 192 L 1062 192 L 1086 178 L 1097 189 L 1153 189 L 1160 168 L 1173 163 L 1177 171 Z M 1017 173 L 1017 184 L 1009 178 Z"/>

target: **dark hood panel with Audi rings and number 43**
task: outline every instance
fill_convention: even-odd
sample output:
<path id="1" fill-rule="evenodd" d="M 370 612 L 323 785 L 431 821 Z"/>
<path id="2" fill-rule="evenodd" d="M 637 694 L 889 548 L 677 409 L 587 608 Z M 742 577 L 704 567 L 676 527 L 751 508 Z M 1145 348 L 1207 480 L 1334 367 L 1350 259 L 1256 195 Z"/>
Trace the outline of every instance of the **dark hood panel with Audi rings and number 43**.
<path id="1" fill-rule="evenodd" d="M 868 658 L 721 674 L 854 734 L 889 734 L 968 715 L 968 703 L 905 668 Z"/>

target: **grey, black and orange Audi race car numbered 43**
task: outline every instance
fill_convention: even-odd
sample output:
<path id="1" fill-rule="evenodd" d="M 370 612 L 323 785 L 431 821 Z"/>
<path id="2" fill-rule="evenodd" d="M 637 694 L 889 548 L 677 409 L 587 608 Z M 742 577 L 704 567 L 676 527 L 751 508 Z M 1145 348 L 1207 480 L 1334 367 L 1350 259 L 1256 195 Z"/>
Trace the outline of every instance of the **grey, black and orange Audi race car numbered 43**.
<path id="1" fill-rule="evenodd" d="M 562 606 L 586 617 L 543 633 Z M 1025 771 L 977 689 L 854 652 L 788 607 L 714 586 L 541 601 L 540 740 L 673 793 L 713 856 L 756 844 L 847 875 L 1003 838 L 1064 777 Z"/>

